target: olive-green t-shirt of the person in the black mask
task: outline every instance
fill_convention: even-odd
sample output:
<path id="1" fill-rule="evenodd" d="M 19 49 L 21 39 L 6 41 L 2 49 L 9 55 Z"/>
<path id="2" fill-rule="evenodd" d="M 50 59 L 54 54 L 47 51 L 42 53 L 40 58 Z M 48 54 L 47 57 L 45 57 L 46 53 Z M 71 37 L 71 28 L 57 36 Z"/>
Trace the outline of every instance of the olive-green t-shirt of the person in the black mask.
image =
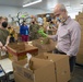
<path id="1" fill-rule="evenodd" d="M 7 30 L 0 28 L 0 42 L 5 45 L 7 38 L 9 36 L 9 32 Z"/>

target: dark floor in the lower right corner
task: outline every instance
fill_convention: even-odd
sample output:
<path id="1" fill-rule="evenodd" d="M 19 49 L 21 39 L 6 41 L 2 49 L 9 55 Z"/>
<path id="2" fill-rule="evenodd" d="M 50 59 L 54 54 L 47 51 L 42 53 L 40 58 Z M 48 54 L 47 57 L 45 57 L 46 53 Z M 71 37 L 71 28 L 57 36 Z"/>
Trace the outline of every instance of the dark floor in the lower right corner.
<path id="1" fill-rule="evenodd" d="M 70 82 L 83 82 L 83 66 L 75 66 Z"/>

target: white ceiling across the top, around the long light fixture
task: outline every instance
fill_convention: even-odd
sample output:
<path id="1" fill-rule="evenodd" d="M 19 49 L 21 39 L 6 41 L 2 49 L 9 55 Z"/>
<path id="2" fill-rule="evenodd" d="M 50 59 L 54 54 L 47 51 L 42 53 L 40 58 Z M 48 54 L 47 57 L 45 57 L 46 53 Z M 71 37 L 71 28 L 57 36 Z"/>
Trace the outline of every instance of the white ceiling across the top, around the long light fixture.
<path id="1" fill-rule="evenodd" d="M 35 0 L 0 0 L 0 5 L 12 5 L 12 7 L 22 7 L 25 2 L 35 1 Z M 43 9 L 43 10 L 52 10 L 56 3 L 63 3 L 67 5 L 68 10 L 81 10 L 81 3 L 83 0 L 43 0 L 40 3 L 33 4 L 28 8 Z M 68 8 L 68 7 L 71 8 Z"/>

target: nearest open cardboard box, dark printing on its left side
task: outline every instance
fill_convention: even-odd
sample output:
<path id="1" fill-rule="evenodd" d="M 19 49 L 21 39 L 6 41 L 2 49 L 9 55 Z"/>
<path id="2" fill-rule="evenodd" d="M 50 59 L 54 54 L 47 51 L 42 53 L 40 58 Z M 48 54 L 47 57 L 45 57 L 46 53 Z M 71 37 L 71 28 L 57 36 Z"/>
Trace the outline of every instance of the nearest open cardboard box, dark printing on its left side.
<path id="1" fill-rule="evenodd" d="M 27 82 L 56 82 L 55 66 L 51 61 L 32 58 L 29 68 L 24 68 L 27 60 L 14 61 L 14 71 L 22 75 Z"/>

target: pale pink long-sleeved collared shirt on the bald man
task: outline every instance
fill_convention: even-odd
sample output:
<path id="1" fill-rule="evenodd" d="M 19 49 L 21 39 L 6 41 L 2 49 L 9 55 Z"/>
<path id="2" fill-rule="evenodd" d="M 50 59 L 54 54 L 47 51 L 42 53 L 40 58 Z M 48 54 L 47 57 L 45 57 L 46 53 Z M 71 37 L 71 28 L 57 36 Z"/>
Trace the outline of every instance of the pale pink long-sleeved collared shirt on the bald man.
<path id="1" fill-rule="evenodd" d="M 69 16 L 64 24 L 59 25 L 57 34 L 50 38 L 57 40 L 58 50 L 68 56 L 76 56 L 81 39 L 81 26 Z"/>

